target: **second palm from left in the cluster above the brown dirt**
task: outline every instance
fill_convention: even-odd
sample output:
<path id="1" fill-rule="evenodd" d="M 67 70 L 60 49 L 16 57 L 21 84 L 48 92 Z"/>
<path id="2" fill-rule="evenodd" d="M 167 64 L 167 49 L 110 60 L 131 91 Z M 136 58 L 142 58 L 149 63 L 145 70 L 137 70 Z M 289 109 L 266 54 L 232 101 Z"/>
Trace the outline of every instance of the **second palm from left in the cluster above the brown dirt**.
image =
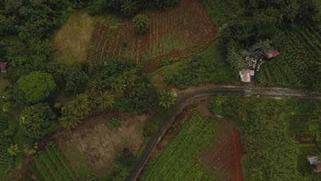
<path id="1" fill-rule="evenodd" d="M 77 95 L 77 97 L 70 102 L 69 106 L 71 111 L 81 118 L 86 117 L 89 110 L 91 110 L 91 104 L 86 93 Z"/>

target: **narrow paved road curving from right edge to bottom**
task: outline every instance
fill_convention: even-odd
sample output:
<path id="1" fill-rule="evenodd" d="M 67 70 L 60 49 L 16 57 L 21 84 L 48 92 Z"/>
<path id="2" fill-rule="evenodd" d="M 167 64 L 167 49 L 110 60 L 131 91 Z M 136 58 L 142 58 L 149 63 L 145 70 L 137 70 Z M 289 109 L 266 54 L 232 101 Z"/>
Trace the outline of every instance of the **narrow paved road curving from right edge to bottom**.
<path id="1" fill-rule="evenodd" d="M 145 149 L 139 156 L 136 165 L 130 172 L 130 175 L 126 178 L 126 181 L 135 180 L 141 170 L 145 166 L 150 153 L 165 134 L 165 130 L 169 123 L 176 117 L 176 114 L 185 108 L 190 101 L 207 97 L 211 95 L 239 95 L 243 97 L 256 97 L 256 98 L 274 98 L 274 99 L 285 99 L 285 98 L 302 98 L 302 99 L 321 99 L 320 93 L 315 93 L 310 90 L 292 89 L 292 88 L 244 88 L 237 86 L 226 86 L 226 87 L 198 87 L 191 90 L 183 90 L 178 92 L 177 102 L 178 108 L 173 114 L 165 115 L 160 121 L 160 127 L 153 138 L 147 143 Z"/>

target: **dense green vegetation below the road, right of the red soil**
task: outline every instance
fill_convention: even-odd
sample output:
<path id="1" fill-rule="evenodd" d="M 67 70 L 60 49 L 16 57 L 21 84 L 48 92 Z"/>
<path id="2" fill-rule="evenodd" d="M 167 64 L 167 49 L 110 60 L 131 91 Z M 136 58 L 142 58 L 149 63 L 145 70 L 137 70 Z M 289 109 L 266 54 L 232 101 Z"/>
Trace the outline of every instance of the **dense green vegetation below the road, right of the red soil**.
<path id="1" fill-rule="evenodd" d="M 209 110 L 242 125 L 245 180 L 320 178 L 307 163 L 307 156 L 321 149 L 320 101 L 218 95 L 209 101 Z M 306 139 L 300 140 L 307 135 L 308 145 Z"/>

